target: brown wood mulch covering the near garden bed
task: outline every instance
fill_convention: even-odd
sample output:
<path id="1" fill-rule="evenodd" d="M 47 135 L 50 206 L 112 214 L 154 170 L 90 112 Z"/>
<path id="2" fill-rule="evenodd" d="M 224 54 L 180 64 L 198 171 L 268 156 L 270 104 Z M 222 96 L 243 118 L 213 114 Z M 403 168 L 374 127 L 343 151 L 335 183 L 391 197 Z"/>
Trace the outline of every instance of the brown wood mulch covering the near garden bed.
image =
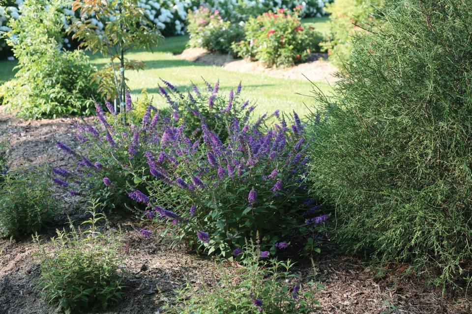
<path id="1" fill-rule="evenodd" d="M 56 141 L 78 145 L 74 137 L 75 121 L 77 118 L 22 120 L 1 112 L 0 107 L 0 141 L 9 140 L 7 158 L 10 167 L 27 163 L 67 164 L 69 161 L 59 153 Z M 83 217 L 83 202 L 70 200 L 66 203 L 67 208 L 60 209 L 56 225 L 41 234 L 45 243 L 49 243 L 55 228 L 64 226 L 65 213 L 77 220 Z M 215 275 L 214 261 L 188 252 L 185 247 L 171 245 L 160 236 L 157 237 L 159 241 L 142 238 L 138 230 L 143 226 L 139 223 L 136 219 L 119 216 L 111 221 L 112 227 L 123 230 L 123 241 L 129 248 L 123 264 L 126 289 L 122 302 L 103 313 L 165 313 L 162 306 L 174 302 L 175 289 L 186 282 L 197 286 L 208 284 L 208 278 Z M 60 313 L 40 298 L 36 288 L 36 250 L 31 239 L 0 240 L 0 314 Z M 446 290 L 442 294 L 440 289 L 428 286 L 414 276 L 402 276 L 405 265 L 372 268 L 353 257 L 326 254 L 317 258 L 314 267 L 301 260 L 295 269 L 302 282 L 313 279 L 324 287 L 315 294 L 322 308 L 314 313 L 472 313 L 472 302 L 463 292 L 454 294 Z M 236 264 L 227 262 L 226 266 L 231 268 Z"/>

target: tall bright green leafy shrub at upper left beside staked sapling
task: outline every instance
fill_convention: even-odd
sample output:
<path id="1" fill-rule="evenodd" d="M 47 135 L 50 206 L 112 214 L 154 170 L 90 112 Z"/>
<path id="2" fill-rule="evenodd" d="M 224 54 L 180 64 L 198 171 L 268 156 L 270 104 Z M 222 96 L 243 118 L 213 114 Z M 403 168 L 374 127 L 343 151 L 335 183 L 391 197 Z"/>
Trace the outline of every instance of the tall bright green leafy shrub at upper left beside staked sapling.
<path id="1" fill-rule="evenodd" d="M 43 0 L 26 0 L 21 18 L 12 20 L 7 42 L 18 58 L 15 80 L 3 91 L 3 103 L 20 116 L 41 118 L 93 112 L 90 83 L 96 69 L 82 51 L 59 50 L 61 36 L 57 7 Z M 51 62 L 54 60 L 54 62 Z"/>

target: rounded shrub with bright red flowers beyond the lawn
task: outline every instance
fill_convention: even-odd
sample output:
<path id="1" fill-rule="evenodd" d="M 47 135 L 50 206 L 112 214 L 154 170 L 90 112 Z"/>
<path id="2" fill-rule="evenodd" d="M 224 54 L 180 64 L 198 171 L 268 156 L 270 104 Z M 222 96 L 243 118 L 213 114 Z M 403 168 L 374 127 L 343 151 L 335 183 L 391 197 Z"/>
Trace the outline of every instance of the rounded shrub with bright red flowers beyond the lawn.
<path id="1" fill-rule="evenodd" d="M 241 57 L 260 60 L 267 67 L 290 66 L 320 50 L 322 35 L 313 27 L 303 28 L 299 9 L 279 9 L 250 18 L 244 26 L 245 39 L 231 46 Z"/>

